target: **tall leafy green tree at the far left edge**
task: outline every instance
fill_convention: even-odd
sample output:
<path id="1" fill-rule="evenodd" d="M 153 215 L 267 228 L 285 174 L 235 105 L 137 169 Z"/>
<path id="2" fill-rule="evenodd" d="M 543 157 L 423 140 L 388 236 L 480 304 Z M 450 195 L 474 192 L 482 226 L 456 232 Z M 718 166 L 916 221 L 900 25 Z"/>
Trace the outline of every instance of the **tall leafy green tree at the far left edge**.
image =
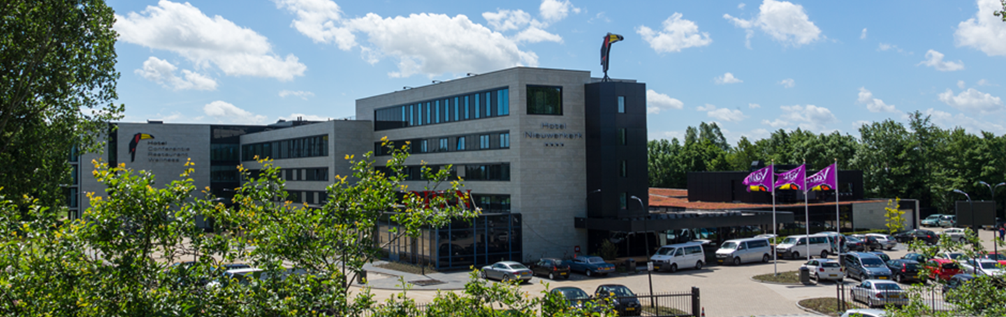
<path id="1" fill-rule="evenodd" d="M 76 146 L 97 149 L 121 118 L 116 96 L 115 16 L 102 0 L 0 3 L 0 186 L 49 207 Z M 15 200 L 26 216 L 27 201 Z M 54 211 L 55 209 L 47 209 Z"/>

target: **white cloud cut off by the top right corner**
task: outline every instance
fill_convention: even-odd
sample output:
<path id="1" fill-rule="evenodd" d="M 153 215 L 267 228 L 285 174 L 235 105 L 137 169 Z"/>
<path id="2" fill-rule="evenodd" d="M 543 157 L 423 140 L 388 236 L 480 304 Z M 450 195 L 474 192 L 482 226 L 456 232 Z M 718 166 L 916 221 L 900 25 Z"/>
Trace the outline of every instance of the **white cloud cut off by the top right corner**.
<path id="1" fill-rule="evenodd" d="M 989 56 L 1006 55 L 1006 23 L 992 15 L 998 10 L 1002 10 L 999 0 L 978 0 L 978 13 L 958 24 L 954 43 L 977 48 Z"/>

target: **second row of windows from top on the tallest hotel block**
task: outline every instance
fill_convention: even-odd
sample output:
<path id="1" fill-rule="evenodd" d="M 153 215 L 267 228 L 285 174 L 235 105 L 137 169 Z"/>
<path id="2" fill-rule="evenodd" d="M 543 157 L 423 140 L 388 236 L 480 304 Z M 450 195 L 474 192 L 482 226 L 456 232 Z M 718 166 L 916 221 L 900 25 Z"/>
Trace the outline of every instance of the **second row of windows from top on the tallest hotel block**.
<path id="1" fill-rule="evenodd" d="M 445 136 L 427 139 L 389 141 L 391 149 L 398 149 L 408 142 L 409 154 L 479 151 L 510 148 L 510 132 L 490 132 L 463 136 Z M 376 156 L 391 155 L 391 150 L 381 142 L 374 142 Z"/>

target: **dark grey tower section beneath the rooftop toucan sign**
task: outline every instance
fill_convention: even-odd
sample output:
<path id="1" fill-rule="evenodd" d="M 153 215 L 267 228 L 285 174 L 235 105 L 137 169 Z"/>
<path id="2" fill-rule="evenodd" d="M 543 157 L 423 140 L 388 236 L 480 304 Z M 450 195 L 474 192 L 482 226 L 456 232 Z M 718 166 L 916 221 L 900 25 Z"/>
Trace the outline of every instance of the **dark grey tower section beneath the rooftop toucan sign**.
<path id="1" fill-rule="evenodd" d="M 593 83 L 585 94 L 588 217 L 646 215 L 646 85 Z"/>

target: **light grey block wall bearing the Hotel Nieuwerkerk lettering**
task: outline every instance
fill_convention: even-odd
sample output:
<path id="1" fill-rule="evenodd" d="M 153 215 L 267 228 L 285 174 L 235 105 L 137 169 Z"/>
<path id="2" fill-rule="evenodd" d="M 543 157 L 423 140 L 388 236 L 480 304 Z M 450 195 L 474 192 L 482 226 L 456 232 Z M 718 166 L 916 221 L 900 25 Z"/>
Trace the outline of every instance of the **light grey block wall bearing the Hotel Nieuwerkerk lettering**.
<path id="1" fill-rule="evenodd" d="M 510 163 L 510 181 L 466 181 L 464 189 L 478 194 L 509 194 L 511 212 L 523 216 L 523 257 L 561 257 L 574 246 L 586 245 L 586 231 L 573 226 L 573 217 L 586 215 L 586 167 L 583 139 L 528 138 L 530 133 L 584 134 L 584 88 L 589 71 L 515 67 L 443 84 L 415 88 L 356 101 L 356 118 L 371 120 L 374 109 L 405 105 L 484 90 L 509 88 L 508 116 L 376 131 L 373 142 L 480 132 L 509 131 L 510 148 L 412 155 L 406 164 Z M 562 116 L 527 115 L 527 85 L 561 86 Z M 564 129 L 543 128 L 563 124 Z M 546 146 L 561 143 L 561 146 Z M 382 162 L 378 162 L 380 164 Z M 422 190 L 424 181 L 406 182 Z"/>

